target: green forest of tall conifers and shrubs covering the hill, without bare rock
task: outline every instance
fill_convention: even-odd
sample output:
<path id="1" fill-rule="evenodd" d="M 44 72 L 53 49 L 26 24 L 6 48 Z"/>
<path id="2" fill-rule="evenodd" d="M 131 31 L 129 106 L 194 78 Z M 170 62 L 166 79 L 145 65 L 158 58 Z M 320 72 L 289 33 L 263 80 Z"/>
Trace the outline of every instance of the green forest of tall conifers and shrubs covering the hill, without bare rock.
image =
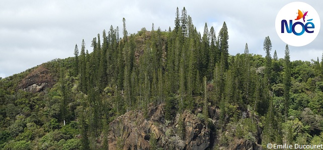
<path id="1" fill-rule="evenodd" d="M 109 122 L 160 103 L 166 120 L 184 110 L 208 118 L 209 108 L 218 109 L 215 130 L 222 136 L 214 148 L 233 138 L 263 145 L 323 142 L 323 60 L 318 57 L 290 61 L 288 45 L 282 47 L 284 58 L 276 50 L 272 57 L 269 36 L 265 57 L 250 54 L 247 43 L 241 54 L 229 55 L 226 23 L 218 34 L 205 23 L 200 33 L 185 7 L 181 16 L 177 8 L 173 30 L 152 24 L 150 31 L 128 35 L 123 18 L 122 33 L 120 38 L 119 28 L 111 25 L 102 38 L 93 38 L 93 52 L 83 40 L 74 57 L 42 64 L 58 78 L 42 92 L 17 88 L 33 68 L 1 78 L 0 147 L 107 149 Z"/>

